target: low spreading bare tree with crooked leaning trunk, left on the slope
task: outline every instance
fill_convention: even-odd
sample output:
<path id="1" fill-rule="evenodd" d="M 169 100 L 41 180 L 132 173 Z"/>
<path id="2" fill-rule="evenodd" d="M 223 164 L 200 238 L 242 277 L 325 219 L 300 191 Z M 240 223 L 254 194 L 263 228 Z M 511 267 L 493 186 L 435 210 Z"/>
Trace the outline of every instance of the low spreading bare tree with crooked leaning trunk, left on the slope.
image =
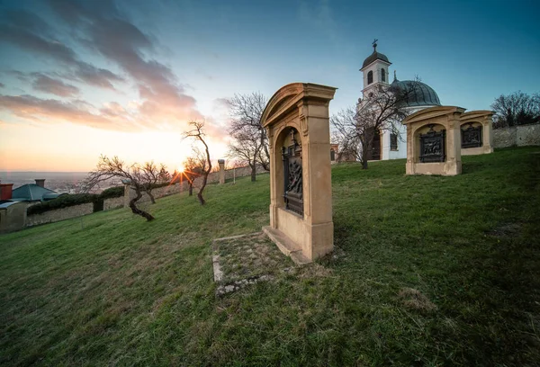
<path id="1" fill-rule="evenodd" d="M 94 171 L 90 172 L 86 177 L 83 190 L 89 192 L 95 185 L 103 181 L 119 178 L 122 182 L 129 183 L 130 187 L 135 190 L 135 197 L 130 200 L 129 204 L 133 214 L 150 221 L 154 217 L 147 211 L 140 210 L 137 207 L 137 201 L 142 197 L 142 192 L 147 191 L 148 187 L 151 186 L 151 183 L 155 184 L 162 179 L 166 180 L 168 177 L 165 176 L 165 173 L 166 169 L 163 165 L 160 165 L 160 170 L 157 170 L 154 163 L 146 163 L 144 166 L 135 163 L 128 166 L 119 157 L 101 156 Z M 149 196 L 152 202 L 155 202 L 152 195 L 149 194 Z"/>

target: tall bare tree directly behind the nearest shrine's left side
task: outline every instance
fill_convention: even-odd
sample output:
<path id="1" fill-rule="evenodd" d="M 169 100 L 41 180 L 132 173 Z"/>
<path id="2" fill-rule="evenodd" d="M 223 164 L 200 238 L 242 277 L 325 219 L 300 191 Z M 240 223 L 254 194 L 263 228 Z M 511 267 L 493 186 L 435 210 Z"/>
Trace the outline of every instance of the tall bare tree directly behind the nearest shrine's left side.
<path id="1" fill-rule="evenodd" d="M 229 135 L 233 139 L 229 147 L 229 157 L 238 158 L 249 166 L 255 161 L 269 171 L 268 137 L 265 128 L 261 126 L 266 97 L 260 93 L 235 94 L 228 103 L 231 118 Z M 255 180 L 252 178 L 252 181 Z"/>

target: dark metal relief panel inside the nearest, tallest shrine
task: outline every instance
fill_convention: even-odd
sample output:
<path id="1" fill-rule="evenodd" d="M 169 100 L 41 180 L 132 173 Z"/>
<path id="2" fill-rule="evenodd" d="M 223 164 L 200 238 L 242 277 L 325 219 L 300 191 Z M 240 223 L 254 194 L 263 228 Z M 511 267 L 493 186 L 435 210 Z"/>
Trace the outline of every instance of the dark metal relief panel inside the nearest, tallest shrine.
<path id="1" fill-rule="evenodd" d="M 284 201 L 285 209 L 303 215 L 302 196 L 302 146 L 294 138 L 296 130 L 291 130 L 293 144 L 282 148 L 284 161 Z"/>

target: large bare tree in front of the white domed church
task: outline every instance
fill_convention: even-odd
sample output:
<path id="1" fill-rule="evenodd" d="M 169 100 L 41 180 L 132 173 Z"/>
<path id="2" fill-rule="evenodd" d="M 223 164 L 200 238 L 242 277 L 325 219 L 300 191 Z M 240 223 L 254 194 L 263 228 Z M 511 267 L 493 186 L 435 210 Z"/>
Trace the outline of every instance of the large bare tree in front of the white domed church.
<path id="1" fill-rule="evenodd" d="M 407 101 L 415 93 L 417 81 L 394 88 L 379 86 L 378 90 L 356 108 L 349 107 L 330 118 L 339 144 L 339 157 L 356 157 L 367 169 L 375 134 L 381 130 L 397 132 L 401 121 L 410 113 Z"/>

